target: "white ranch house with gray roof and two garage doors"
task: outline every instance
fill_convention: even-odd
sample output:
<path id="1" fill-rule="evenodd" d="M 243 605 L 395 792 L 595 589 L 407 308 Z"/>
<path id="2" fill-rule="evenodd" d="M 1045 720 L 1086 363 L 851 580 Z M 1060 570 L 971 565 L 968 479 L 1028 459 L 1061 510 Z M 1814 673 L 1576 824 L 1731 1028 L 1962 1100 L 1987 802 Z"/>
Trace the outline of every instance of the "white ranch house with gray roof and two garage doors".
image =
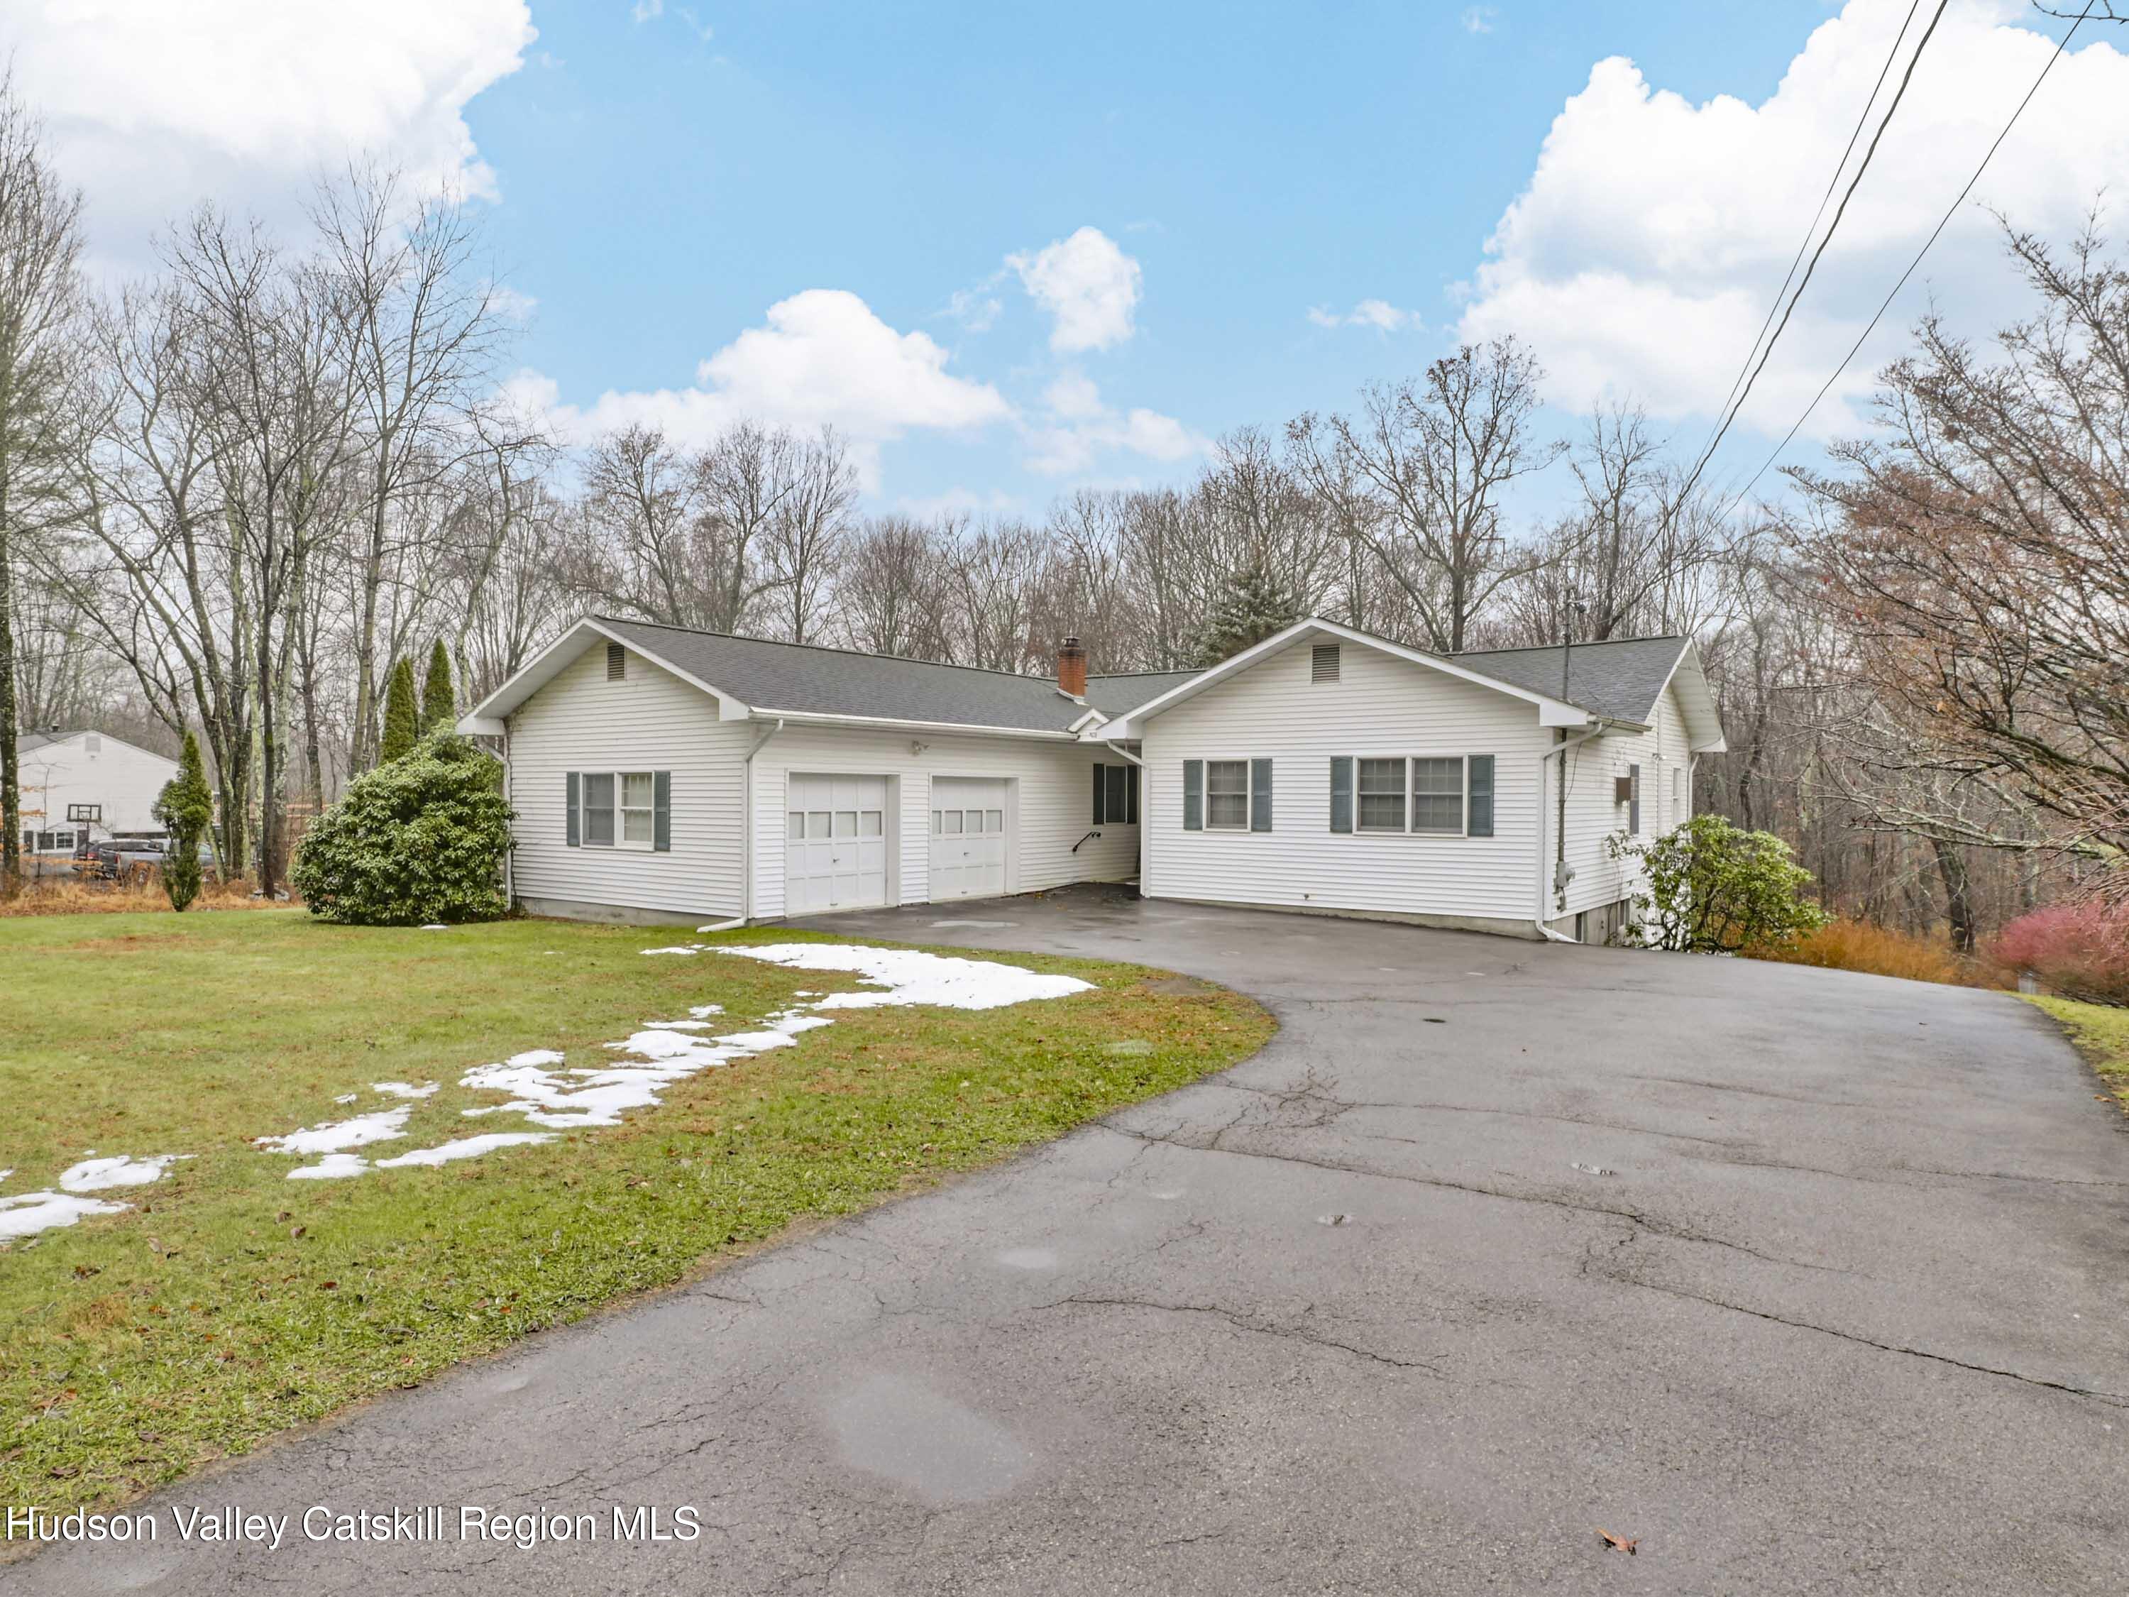
<path id="1" fill-rule="evenodd" d="M 1684 639 L 1582 645 L 1558 677 L 1558 649 L 1441 658 L 1320 620 L 1209 671 L 1088 677 L 1067 639 L 1050 681 L 588 618 L 460 730 L 502 739 L 534 913 L 773 920 L 1139 879 L 1603 937 L 1633 886 L 1605 837 L 1684 820 L 1722 730 Z"/>

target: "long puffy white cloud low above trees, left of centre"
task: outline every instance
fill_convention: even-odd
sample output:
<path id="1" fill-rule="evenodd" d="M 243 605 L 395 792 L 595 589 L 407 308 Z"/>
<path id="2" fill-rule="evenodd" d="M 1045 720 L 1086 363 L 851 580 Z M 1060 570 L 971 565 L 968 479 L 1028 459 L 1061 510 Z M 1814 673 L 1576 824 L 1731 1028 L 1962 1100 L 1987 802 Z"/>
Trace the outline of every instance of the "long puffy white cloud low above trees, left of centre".
<path id="1" fill-rule="evenodd" d="M 956 377 L 945 364 L 945 349 L 922 332 L 896 332 L 856 294 L 809 287 L 771 304 L 766 326 L 747 328 L 696 366 L 690 388 L 609 390 L 575 407 L 549 379 L 522 373 L 513 392 L 575 443 L 630 424 L 664 428 L 683 445 L 707 443 L 743 419 L 835 426 L 873 483 L 881 443 L 913 430 L 964 432 L 1011 419 L 999 390 Z"/>

